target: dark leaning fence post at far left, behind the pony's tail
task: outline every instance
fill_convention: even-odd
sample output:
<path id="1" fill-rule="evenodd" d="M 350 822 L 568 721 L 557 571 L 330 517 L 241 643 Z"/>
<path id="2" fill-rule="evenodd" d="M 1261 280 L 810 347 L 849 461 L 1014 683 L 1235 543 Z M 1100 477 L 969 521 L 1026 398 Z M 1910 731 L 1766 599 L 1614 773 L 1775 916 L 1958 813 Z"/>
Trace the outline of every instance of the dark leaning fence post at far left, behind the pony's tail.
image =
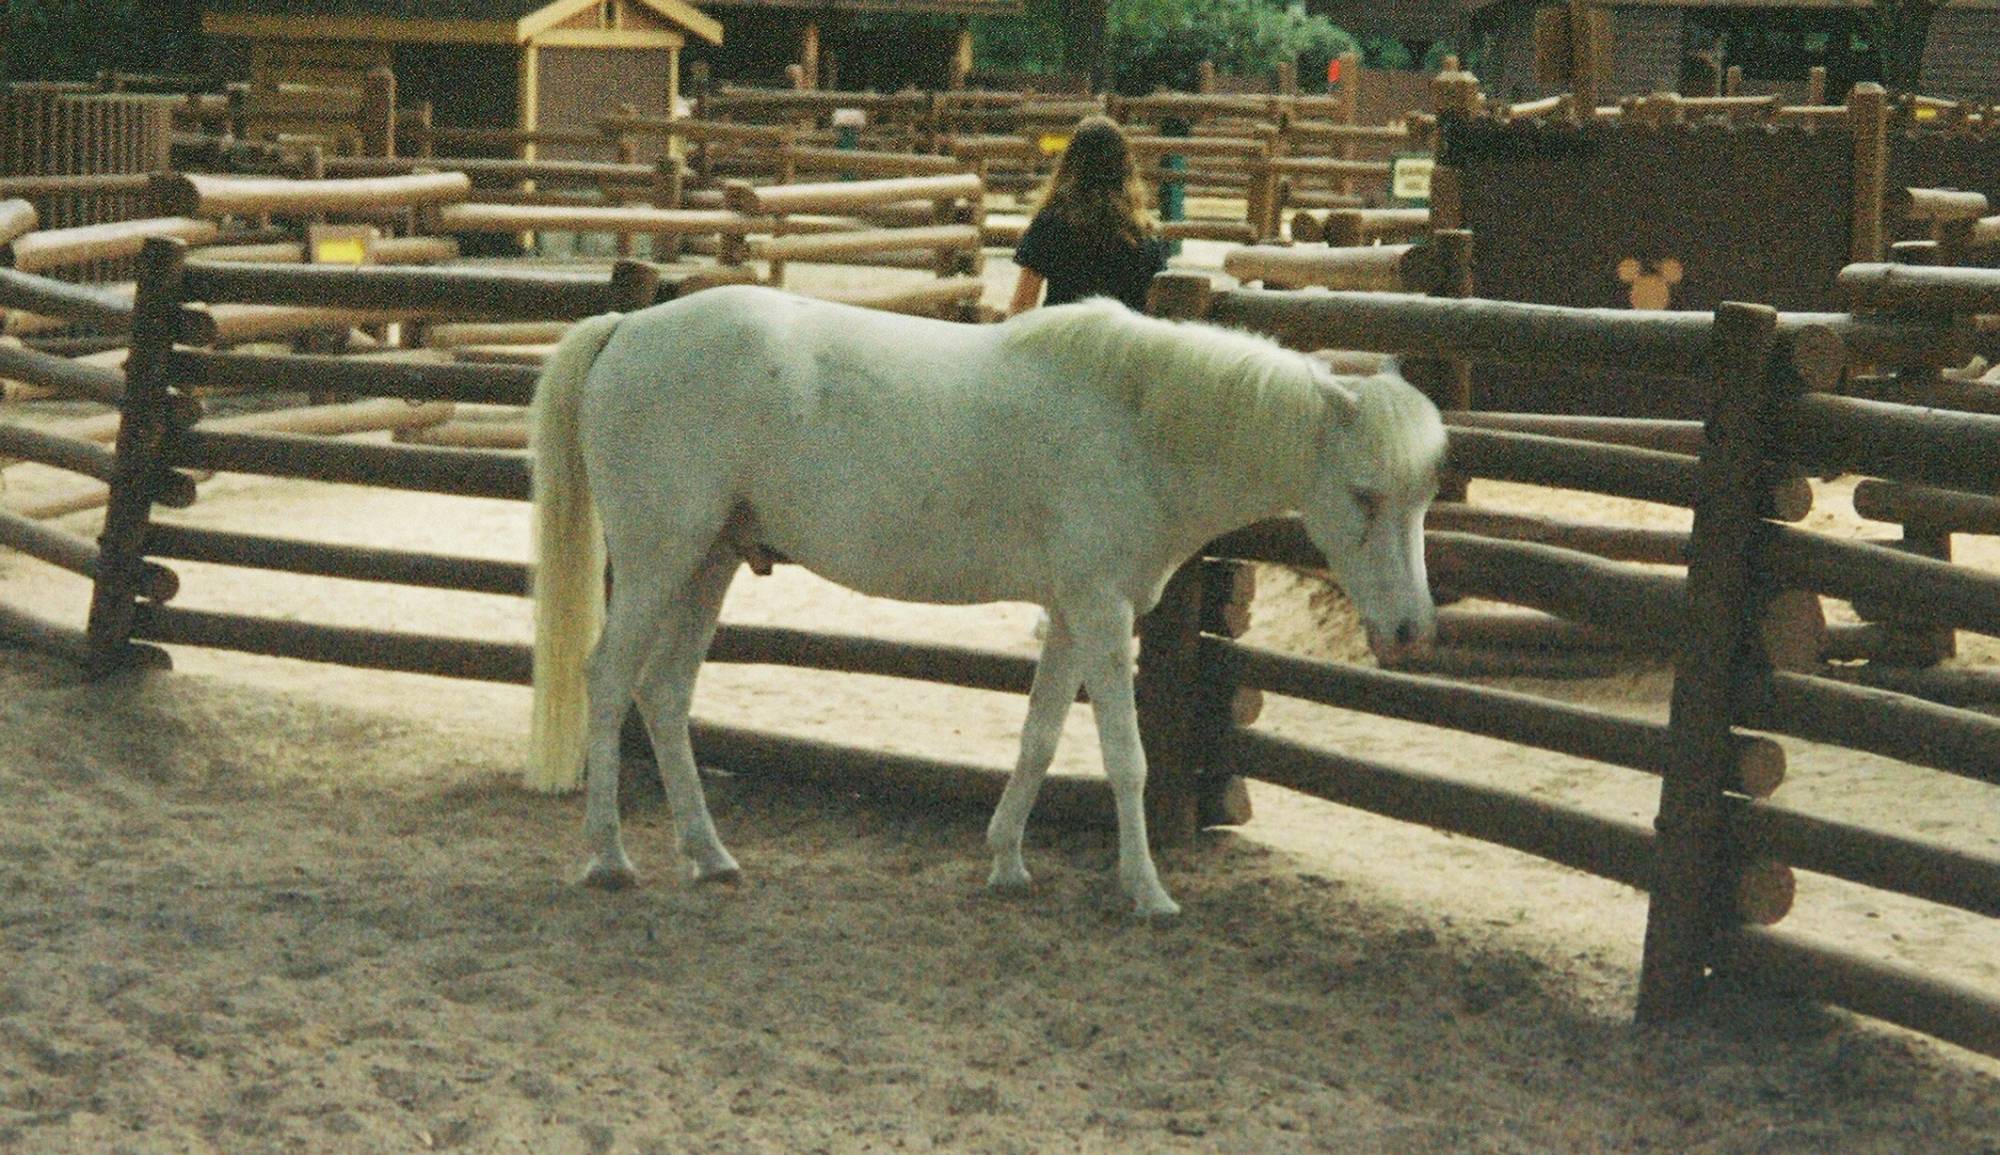
<path id="1" fill-rule="evenodd" d="M 94 675 L 128 665 L 164 665 L 164 651 L 132 645 L 132 619 L 138 613 L 146 524 L 160 484 L 162 450 L 176 422 L 192 424 L 188 418 L 194 416 L 174 404 L 166 370 L 180 332 L 186 260 L 188 246 L 172 238 L 150 238 L 138 256 L 118 464 L 104 508 L 104 534 L 98 538 L 98 578 L 90 589 L 86 627 Z"/>

